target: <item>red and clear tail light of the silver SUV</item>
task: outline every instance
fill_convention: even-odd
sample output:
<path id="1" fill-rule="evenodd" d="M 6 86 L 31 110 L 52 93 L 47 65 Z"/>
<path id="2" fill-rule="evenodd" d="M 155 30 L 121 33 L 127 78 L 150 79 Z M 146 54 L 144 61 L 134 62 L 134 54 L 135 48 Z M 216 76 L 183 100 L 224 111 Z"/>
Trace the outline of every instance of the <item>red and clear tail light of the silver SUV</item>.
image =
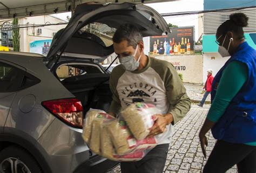
<path id="1" fill-rule="evenodd" d="M 69 126 L 83 127 L 83 106 L 78 99 L 50 100 L 42 105 Z"/>

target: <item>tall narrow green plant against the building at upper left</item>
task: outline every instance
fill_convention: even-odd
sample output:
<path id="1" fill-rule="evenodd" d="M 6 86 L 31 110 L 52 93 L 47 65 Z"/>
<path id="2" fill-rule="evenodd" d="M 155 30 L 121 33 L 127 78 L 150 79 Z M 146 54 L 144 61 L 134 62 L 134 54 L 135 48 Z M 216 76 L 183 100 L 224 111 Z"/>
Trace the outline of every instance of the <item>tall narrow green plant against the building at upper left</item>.
<path id="1" fill-rule="evenodd" d="M 14 44 L 14 51 L 19 52 L 19 47 L 20 47 L 20 38 L 21 34 L 19 34 L 19 19 L 14 18 L 12 20 L 12 39 L 13 39 L 13 44 Z"/>

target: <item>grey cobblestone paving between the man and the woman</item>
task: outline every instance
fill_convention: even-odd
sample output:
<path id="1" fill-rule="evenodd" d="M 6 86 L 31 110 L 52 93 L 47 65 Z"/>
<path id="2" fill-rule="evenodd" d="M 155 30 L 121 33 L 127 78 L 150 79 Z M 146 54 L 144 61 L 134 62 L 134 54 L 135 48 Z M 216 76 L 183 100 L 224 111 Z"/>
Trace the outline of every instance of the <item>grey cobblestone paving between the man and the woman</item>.
<path id="1" fill-rule="evenodd" d="M 210 108 L 209 105 L 205 105 L 204 108 L 192 105 L 190 112 L 174 126 L 173 140 L 170 144 L 164 173 L 201 172 L 203 170 L 207 158 L 205 159 L 201 152 L 198 134 L 208 108 Z M 216 141 L 210 132 L 207 133 L 207 139 L 206 151 L 209 156 Z M 110 172 L 120 172 L 120 167 Z M 233 167 L 227 172 L 237 172 L 237 169 Z"/>

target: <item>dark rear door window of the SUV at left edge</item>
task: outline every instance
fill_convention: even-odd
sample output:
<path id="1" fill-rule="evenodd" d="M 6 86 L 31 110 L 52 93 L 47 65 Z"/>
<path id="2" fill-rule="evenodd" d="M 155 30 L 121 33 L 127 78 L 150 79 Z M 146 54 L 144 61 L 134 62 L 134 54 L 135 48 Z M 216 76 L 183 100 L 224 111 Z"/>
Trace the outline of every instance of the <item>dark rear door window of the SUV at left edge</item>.
<path id="1" fill-rule="evenodd" d="M 0 92 L 15 92 L 22 86 L 25 71 L 0 61 Z"/>

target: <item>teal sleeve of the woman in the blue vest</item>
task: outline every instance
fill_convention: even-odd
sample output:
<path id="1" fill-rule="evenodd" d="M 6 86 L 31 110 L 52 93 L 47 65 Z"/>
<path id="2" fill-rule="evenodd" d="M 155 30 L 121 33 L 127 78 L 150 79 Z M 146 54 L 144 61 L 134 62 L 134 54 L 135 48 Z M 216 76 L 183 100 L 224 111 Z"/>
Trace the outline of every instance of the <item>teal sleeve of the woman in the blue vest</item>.
<path id="1" fill-rule="evenodd" d="M 248 78 L 247 66 L 239 61 L 232 61 L 223 72 L 217 93 L 207 114 L 207 119 L 217 122 L 225 113 L 234 96 L 240 91 Z"/>

